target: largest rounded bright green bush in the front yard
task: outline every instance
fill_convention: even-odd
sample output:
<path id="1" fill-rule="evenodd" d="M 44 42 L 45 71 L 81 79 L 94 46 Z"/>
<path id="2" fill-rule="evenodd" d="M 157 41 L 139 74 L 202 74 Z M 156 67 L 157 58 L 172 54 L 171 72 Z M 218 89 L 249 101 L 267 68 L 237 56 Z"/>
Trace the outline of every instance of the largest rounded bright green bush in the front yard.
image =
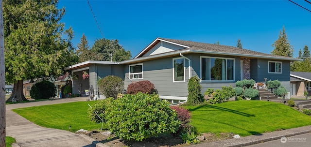
<path id="1" fill-rule="evenodd" d="M 158 133 L 175 132 L 180 124 L 176 112 L 156 94 L 125 94 L 107 111 L 109 130 L 124 140 L 142 141 Z"/>

